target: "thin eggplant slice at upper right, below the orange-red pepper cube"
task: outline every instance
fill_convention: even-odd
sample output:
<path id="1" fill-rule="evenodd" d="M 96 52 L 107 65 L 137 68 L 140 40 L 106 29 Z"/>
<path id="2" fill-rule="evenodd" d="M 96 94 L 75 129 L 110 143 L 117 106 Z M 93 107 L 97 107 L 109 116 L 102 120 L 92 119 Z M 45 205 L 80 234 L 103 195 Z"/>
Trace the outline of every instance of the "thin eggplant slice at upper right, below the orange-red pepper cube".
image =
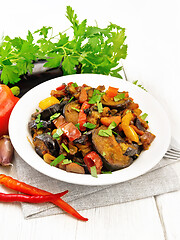
<path id="1" fill-rule="evenodd" d="M 105 101 L 104 99 L 102 99 L 101 102 L 104 106 L 107 106 L 111 109 L 116 108 L 118 110 L 123 110 L 123 109 L 127 108 L 128 105 L 131 103 L 131 99 L 130 98 L 122 99 L 118 102 L 115 102 L 111 99 L 109 99 L 108 101 Z"/>

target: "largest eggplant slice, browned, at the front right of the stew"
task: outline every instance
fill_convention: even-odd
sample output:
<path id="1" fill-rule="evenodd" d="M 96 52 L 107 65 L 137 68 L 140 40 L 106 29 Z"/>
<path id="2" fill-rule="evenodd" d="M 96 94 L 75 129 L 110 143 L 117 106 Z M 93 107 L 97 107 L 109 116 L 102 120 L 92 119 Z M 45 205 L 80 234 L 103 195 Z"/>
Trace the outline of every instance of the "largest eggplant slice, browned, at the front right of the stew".
<path id="1" fill-rule="evenodd" d="M 115 171 L 128 167 L 132 163 L 132 158 L 123 155 L 114 135 L 109 137 L 99 136 L 98 133 L 101 129 L 106 130 L 107 127 L 101 126 L 95 129 L 92 134 L 92 142 L 96 151 L 102 156 L 106 169 Z"/>

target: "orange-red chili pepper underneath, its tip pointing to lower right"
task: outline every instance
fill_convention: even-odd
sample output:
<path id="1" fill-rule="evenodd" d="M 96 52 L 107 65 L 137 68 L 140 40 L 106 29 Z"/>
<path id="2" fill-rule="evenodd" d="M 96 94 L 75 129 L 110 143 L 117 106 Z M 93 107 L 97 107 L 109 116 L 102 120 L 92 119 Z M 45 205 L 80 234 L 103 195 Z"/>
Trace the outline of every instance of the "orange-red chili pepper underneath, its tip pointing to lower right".
<path id="1" fill-rule="evenodd" d="M 51 194 L 50 192 L 44 191 L 42 189 L 33 187 L 31 185 L 28 185 L 24 182 L 20 182 L 16 179 L 13 179 L 10 176 L 6 176 L 4 174 L 0 174 L 0 184 L 5 185 L 8 188 L 11 188 L 13 190 L 30 194 L 30 195 L 47 195 Z M 74 216 L 75 218 L 82 220 L 82 221 L 88 221 L 88 218 L 82 217 L 73 207 L 71 207 L 68 203 L 63 201 L 61 198 L 57 200 L 51 201 L 61 209 L 63 209 L 65 212 L 69 213 L 70 215 Z"/>

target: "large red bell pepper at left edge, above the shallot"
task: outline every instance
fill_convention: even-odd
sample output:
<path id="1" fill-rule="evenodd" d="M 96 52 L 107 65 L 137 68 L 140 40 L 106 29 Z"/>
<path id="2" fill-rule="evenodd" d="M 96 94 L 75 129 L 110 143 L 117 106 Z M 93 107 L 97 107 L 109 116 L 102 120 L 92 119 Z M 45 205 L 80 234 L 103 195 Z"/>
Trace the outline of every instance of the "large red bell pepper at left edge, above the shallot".
<path id="1" fill-rule="evenodd" d="M 18 100 L 8 86 L 0 84 L 0 136 L 8 134 L 9 117 Z"/>

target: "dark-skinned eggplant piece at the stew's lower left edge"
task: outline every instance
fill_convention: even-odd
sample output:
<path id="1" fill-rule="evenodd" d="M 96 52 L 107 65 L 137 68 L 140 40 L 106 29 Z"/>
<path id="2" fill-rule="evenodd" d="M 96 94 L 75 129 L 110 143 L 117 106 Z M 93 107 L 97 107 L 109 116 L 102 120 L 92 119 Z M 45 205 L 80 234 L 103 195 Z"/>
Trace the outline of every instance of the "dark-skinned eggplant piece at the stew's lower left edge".
<path id="1" fill-rule="evenodd" d="M 56 139 L 53 139 L 49 134 L 43 133 L 37 135 L 33 140 L 35 151 L 40 157 L 45 153 L 49 153 L 54 157 L 59 156 L 60 147 Z"/>

